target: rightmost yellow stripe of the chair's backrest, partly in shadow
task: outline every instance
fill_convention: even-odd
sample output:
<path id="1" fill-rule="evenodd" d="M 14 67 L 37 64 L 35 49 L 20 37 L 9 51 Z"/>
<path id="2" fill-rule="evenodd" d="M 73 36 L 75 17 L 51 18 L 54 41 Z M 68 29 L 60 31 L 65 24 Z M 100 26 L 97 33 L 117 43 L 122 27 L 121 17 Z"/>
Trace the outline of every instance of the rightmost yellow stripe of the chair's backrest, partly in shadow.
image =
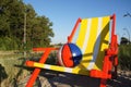
<path id="1" fill-rule="evenodd" d="M 100 34 L 100 45 L 99 45 L 99 51 L 98 51 L 98 55 L 97 55 L 97 60 L 96 60 L 96 64 L 94 69 L 98 69 L 102 70 L 103 67 L 103 60 L 105 57 L 105 49 L 108 48 L 109 46 L 109 20 L 110 17 L 103 17 L 103 26 L 102 26 L 102 34 Z"/>

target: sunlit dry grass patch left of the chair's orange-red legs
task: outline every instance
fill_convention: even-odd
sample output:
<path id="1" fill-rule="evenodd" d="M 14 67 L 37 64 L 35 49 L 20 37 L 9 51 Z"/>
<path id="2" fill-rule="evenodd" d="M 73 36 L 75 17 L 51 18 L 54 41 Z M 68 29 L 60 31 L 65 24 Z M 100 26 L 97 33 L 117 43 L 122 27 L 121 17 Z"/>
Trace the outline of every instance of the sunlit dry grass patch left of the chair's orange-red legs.
<path id="1" fill-rule="evenodd" d="M 16 65 L 24 65 L 25 60 L 22 60 L 23 54 L 0 52 L 1 65 L 1 87 L 14 86 L 15 80 L 20 80 L 28 72 Z M 3 77 L 2 77 L 3 76 Z"/>

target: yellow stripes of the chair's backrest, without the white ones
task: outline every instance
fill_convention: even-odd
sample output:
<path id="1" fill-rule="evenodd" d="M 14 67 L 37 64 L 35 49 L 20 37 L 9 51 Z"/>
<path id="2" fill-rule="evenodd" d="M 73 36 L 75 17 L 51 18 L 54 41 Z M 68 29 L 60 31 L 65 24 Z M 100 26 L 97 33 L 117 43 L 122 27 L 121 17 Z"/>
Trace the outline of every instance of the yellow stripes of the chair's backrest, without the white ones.
<path id="1" fill-rule="evenodd" d="M 100 26 L 100 33 L 97 36 L 98 33 L 98 20 L 102 18 L 102 26 Z M 95 61 L 95 64 L 93 66 L 94 70 L 102 70 L 103 67 L 103 60 L 104 60 L 104 50 L 108 48 L 108 41 L 109 41 L 109 21 L 110 17 L 109 16 L 105 16 L 105 17 L 94 17 L 91 18 L 91 25 L 87 25 L 88 18 L 82 20 L 81 23 L 81 29 L 80 29 L 80 34 L 79 34 L 79 38 L 76 40 L 76 45 L 83 49 L 86 48 L 84 53 L 83 53 L 83 59 L 81 62 L 81 66 L 83 66 L 84 69 L 87 69 L 91 60 L 93 59 L 93 53 L 94 48 L 96 46 L 96 41 L 98 39 L 98 37 L 100 37 L 100 42 L 99 46 L 97 47 L 98 49 L 98 53 L 97 53 L 97 58 Z M 83 47 L 83 41 L 85 41 L 84 39 L 87 38 L 85 37 L 85 33 L 87 32 L 87 26 L 90 26 L 90 35 L 88 35 L 88 40 L 87 40 L 87 45 L 85 47 Z M 80 67 L 80 65 L 78 66 L 78 70 Z M 92 70 L 93 70 L 92 69 Z"/>

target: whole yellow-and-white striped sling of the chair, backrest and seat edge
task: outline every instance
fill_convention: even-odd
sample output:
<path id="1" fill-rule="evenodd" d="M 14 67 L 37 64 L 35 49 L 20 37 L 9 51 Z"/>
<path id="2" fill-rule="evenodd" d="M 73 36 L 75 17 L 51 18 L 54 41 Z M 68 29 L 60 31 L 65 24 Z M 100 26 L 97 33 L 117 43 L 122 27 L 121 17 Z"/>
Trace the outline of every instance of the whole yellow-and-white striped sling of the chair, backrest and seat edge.
<path id="1" fill-rule="evenodd" d="M 43 67 L 59 72 L 88 75 L 90 70 L 102 70 L 105 49 L 109 41 L 109 16 L 84 18 L 81 22 L 76 45 L 82 50 L 83 58 L 75 67 L 63 67 L 34 63 L 36 67 Z"/>

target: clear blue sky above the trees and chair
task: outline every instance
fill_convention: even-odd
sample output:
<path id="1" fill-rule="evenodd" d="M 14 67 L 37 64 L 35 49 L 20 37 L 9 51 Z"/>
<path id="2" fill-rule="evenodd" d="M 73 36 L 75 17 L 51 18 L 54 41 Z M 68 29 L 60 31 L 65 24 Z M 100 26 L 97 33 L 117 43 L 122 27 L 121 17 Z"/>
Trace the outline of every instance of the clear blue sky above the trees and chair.
<path id="1" fill-rule="evenodd" d="M 23 0 L 35 9 L 38 15 L 49 17 L 53 23 L 55 37 L 52 44 L 67 42 L 76 20 L 79 17 L 94 17 L 117 15 L 116 34 L 129 38 L 123 28 L 128 28 L 131 35 L 131 17 L 123 17 L 127 12 L 131 13 L 131 0 Z"/>

